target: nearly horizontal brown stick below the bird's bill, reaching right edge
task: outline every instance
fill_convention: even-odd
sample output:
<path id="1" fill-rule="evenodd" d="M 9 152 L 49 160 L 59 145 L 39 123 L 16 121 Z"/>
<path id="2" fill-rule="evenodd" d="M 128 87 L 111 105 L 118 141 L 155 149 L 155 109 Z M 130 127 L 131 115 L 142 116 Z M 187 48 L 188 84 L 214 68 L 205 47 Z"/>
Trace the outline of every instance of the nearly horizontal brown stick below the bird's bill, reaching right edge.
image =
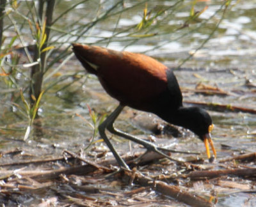
<path id="1" fill-rule="evenodd" d="M 193 171 L 184 178 L 214 178 L 224 175 L 235 175 L 235 176 L 255 176 L 256 168 L 244 168 L 244 169 L 225 169 L 218 171 Z"/>

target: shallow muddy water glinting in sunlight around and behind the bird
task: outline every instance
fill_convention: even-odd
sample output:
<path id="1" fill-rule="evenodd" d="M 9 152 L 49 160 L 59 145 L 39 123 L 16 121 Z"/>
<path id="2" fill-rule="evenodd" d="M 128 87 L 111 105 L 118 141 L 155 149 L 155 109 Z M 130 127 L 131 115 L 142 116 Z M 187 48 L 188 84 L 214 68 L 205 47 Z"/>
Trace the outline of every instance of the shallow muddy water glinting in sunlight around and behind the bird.
<path id="1" fill-rule="evenodd" d="M 113 2 L 111 1 L 111 3 Z M 132 4 L 132 1 L 130 3 Z M 201 18 L 208 19 L 211 17 L 220 8 L 220 3 L 221 1 L 210 2 L 209 8 L 202 14 Z M 65 4 L 67 4 L 65 6 L 68 6 L 68 1 L 65 1 Z M 169 1 L 154 1 L 154 5 L 148 3 L 148 6 L 168 6 L 168 4 L 170 4 Z M 232 9 L 227 12 L 225 19 L 220 24 L 220 28 L 212 36 L 211 40 L 202 49 L 198 50 L 195 56 L 186 61 L 181 68 L 173 69 L 183 91 L 184 101 L 231 104 L 256 109 L 256 6 L 253 1 L 241 1 L 238 4 L 233 1 L 232 5 Z M 108 4 L 105 4 L 105 6 L 108 6 Z M 96 8 L 97 3 L 91 2 L 90 8 L 92 7 Z M 86 8 L 88 6 L 84 6 L 83 10 Z M 120 17 L 118 26 L 125 27 L 131 26 L 134 22 L 139 23 L 143 8 L 144 4 L 135 8 L 134 13 L 129 12 Z M 201 6 L 201 8 L 203 7 Z M 83 10 L 77 10 L 77 15 L 83 16 Z M 88 10 L 88 12 L 92 12 L 92 10 Z M 177 36 L 182 36 L 182 33 L 186 31 L 181 30 L 170 34 L 168 33 L 168 28 L 172 28 L 173 25 L 182 21 L 184 17 L 188 17 L 188 15 L 188 11 L 180 11 L 175 15 L 177 19 L 165 19 L 165 22 L 162 22 L 157 27 L 159 33 L 161 33 L 159 36 L 138 40 L 132 45 L 113 40 L 108 47 L 116 50 L 125 49 L 132 52 L 145 52 L 150 56 L 156 57 L 167 66 L 178 66 L 207 38 L 209 29 L 212 29 L 212 25 L 216 24 L 218 18 L 220 18 L 220 14 L 218 14 L 216 19 L 211 19 L 209 25 L 197 30 L 196 33 L 175 40 Z M 72 15 L 72 17 L 65 18 L 70 20 L 79 17 Z M 96 27 L 96 31 L 92 31 L 92 33 L 109 36 L 113 28 L 115 26 L 111 22 L 104 22 L 101 26 Z M 90 37 L 85 38 L 83 42 L 93 43 L 96 40 L 97 38 Z M 100 45 L 106 46 L 106 43 Z M 78 71 L 83 69 L 74 59 L 63 66 L 63 73 L 69 70 Z M 66 148 L 70 151 L 79 151 L 80 148 L 86 148 L 93 134 L 93 128 L 88 124 L 88 121 L 92 123 L 92 119 L 89 116 L 87 105 L 90 105 L 101 116 L 115 109 L 118 103 L 106 95 L 97 79 L 91 76 L 77 79 L 71 87 L 59 91 L 65 84 L 73 81 L 74 79 L 68 79 L 63 85 L 60 84 L 45 94 L 40 107 L 40 119 L 36 127 L 34 127 L 35 133 L 30 137 L 29 141 L 22 141 L 24 130 L 20 130 L 20 128 L 26 128 L 28 121 L 20 116 L 13 115 L 13 111 L 17 110 L 15 107 L 12 107 L 10 111 L 8 104 L 2 105 L 3 118 L 0 120 L 1 126 L 7 125 L 8 128 L 17 128 L 17 131 L 3 130 L 0 141 L 1 150 L 8 151 L 20 148 L 24 151 L 23 158 L 26 159 L 45 158 L 49 157 L 49 155 L 51 157 L 58 156 Z M 203 93 L 195 93 L 195 87 L 199 83 L 214 86 L 227 94 L 204 95 Z M 8 97 L 3 95 L 1 100 L 8 100 Z M 218 151 L 218 159 L 255 151 L 255 114 L 223 112 L 211 109 L 209 109 L 209 113 L 215 125 L 212 137 Z M 84 121 L 81 116 L 87 121 Z M 144 138 L 151 134 L 158 144 L 173 147 L 177 150 L 200 151 L 202 152 L 200 157 L 205 158 L 204 144 L 193 134 L 179 129 L 179 139 L 168 133 L 156 135 L 152 133 L 154 127 L 156 127 L 155 123 L 157 125 L 162 122 L 155 116 L 125 108 L 120 118 L 116 121 L 116 127 Z M 97 135 L 95 139 L 97 140 L 98 138 Z M 132 148 L 141 150 L 138 149 L 136 144 L 123 140 L 115 139 L 115 141 L 116 147 L 120 152 L 131 150 Z M 97 146 L 102 151 L 107 149 L 102 142 L 97 143 Z M 111 153 L 108 153 L 108 156 L 111 156 Z M 179 157 L 180 155 L 174 156 Z M 6 156 L 4 160 L 1 159 L 1 162 L 6 163 L 17 160 L 15 156 Z M 250 183 L 251 181 L 245 182 Z M 253 183 L 250 184 L 253 185 Z M 102 185 L 104 186 L 104 184 Z M 156 195 L 152 196 L 156 197 Z M 106 199 L 109 199 L 109 197 L 106 196 Z M 254 194 L 246 194 L 244 192 L 229 194 L 223 192 L 218 199 L 219 206 L 243 206 L 248 203 L 252 204 L 251 206 L 256 203 Z"/>

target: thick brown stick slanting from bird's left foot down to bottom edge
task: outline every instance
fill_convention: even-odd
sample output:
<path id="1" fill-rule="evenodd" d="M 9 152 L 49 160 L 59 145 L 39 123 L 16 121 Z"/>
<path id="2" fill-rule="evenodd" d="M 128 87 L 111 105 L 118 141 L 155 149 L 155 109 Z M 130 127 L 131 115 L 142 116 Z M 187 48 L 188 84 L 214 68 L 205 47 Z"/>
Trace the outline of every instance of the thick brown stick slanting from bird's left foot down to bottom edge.
<path id="1" fill-rule="evenodd" d="M 125 174 L 129 177 L 132 176 L 132 173 L 129 171 L 125 171 Z M 168 185 L 163 181 L 153 181 L 151 178 L 143 176 L 140 173 L 136 173 L 134 181 L 136 181 L 136 183 L 139 183 L 140 185 L 151 187 L 161 194 L 168 195 L 173 199 L 176 199 L 177 201 L 186 203 L 191 206 L 196 206 L 196 207 L 214 206 L 214 204 L 210 203 L 209 201 L 207 201 L 206 199 L 198 195 L 186 192 L 182 188 L 179 188 L 177 186 Z"/>

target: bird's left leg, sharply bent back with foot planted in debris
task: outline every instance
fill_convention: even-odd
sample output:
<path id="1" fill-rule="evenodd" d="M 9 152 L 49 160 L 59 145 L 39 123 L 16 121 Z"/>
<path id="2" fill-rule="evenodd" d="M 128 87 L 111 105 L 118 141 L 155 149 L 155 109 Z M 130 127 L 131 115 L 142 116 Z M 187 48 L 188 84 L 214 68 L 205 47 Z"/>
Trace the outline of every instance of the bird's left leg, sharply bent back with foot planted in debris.
<path id="1" fill-rule="evenodd" d="M 120 114 L 120 112 L 124 109 L 124 106 L 122 105 L 118 105 L 118 107 L 115 109 L 115 111 L 113 111 L 108 118 L 106 118 L 100 125 L 99 125 L 99 134 L 100 137 L 102 137 L 102 139 L 104 139 L 104 141 L 106 142 L 106 144 L 108 145 L 109 150 L 111 150 L 111 152 L 113 153 L 114 157 L 116 158 L 116 161 L 118 162 L 118 164 L 121 167 L 124 167 L 125 169 L 129 169 L 128 165 L 124 162 L 124 160 L 120 157 L 120 155 L 118 155 L 117 151 L 115 150 L 115 148 L 113 147 L 113 145 L 111 144 L 111 142 L 109 141 L 106 133 L 105 133 L 105 129 L 106 127 L 109 126 L 109 123 L 111 123 L 113 125 L 113 122 L 115 121 L 115 119 L 118 117 L 118 115 Z"/>

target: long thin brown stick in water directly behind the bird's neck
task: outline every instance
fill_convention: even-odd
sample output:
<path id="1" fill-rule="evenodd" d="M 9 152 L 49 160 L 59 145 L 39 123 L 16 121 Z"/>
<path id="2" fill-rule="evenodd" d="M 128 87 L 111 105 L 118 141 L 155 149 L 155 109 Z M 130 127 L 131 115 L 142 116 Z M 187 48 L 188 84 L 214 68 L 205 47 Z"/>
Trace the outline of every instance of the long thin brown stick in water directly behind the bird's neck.
<path id="1" fill-rule="evenodd" d="M 202 105 L 204 107 L 209 107 L 210 109 L 216 110 L 216 111 L 245 112 L 250 114 L 256 114 L 255 109 L 234 106 L 231 104 L 216 104 L 216 103 L 203 103 L 203 102 L 191 102 L 191 101 L 184 101 L 184 103 L 192 104 L 192 105 Z"/>

